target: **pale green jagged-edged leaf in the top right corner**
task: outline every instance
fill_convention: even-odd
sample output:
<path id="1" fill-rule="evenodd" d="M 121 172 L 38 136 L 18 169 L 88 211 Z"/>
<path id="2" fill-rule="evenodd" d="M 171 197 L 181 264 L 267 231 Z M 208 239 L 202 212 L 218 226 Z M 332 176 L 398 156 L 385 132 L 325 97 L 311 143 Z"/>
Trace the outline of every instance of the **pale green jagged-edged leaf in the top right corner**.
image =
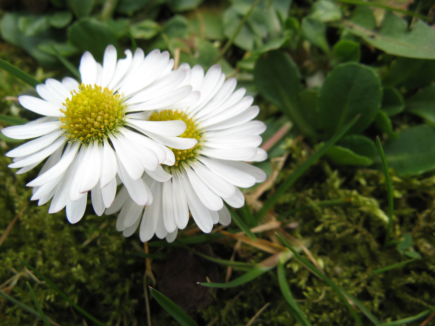
<path id="1" fill-rule="evenodd" d="M 359 6 L 359 11 L 365 11 L 368 17 L 373 13 L 367 7 Z M 361 9 L 364 8 L 364 9 Z M 420 20 L 411 29 L 407 22 L 391 11 L 386 11 L 382 26 L 378 29 L 373 20 L 358 19 L 345 22 L 346 30 L 361 37 L 371 46 L 401 57 L 435 59 L 435 30 Z"/>

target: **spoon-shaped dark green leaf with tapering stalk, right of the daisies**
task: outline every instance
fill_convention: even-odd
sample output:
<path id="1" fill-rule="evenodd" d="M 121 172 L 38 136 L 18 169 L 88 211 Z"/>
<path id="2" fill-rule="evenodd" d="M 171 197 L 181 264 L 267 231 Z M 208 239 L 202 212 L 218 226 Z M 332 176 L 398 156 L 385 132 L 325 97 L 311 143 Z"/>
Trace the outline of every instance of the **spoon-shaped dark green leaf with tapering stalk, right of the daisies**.
<path id="1" fill-rule="evenodd" d="M 281 108 L 289 119 L 308 136 L 316 133 L 301 113 L 299 91 L 300 74 L 296 63 L 281 51 L 271 51 L 258 59 L 254 67 L 254 82 L 258 92 Z"/>

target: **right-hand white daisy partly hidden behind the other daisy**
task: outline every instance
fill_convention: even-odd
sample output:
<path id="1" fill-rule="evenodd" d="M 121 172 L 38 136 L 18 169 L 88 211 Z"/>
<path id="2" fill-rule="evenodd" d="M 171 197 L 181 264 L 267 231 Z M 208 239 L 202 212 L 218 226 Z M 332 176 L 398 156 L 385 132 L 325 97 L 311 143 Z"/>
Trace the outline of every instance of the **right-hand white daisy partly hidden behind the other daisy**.
<path id="1" fill-rule="evenodd" d="M 189 66 L 181 65 L 184 68 Z M 195 138 L 198 143 L 188 150 L 172 149 L 176 163 L 164 165 L 164 170 L 172 174 L 171 180 L 158 182 L 144 175 L 154 196 L 153 203 L 145 209 L 134 203 L 126 189 L 120 190 L 106 213 L 120 210 L 117 230 L 123 231 L 124 236 L 134 233 L 142 221 L 139 230 L 142 241 L 156 234 L 171 242 L 177 230 L 186 227 L 189 211 L 197 226 L 209 233 L 213 224 L 231 222 L 224 201 L 232 207 L 243 206 L 244 196 L 238 187 L 250 187 L 266 178 L 258 167 L 241 162 L 267 158 L 267 153 L 258 147 L 259 135 L 266 126 L 261 121 L 251 121 L 259 112 L 258 106 L 251 106 L 252 96 L 244 96 L 244 88 L 234 91 L 236 80 L 225 81 L 218 65 L 211 67 L 205 76 L 200 66 L 193 67 L 188 83 L 201 92 L 197 103 L 180 110 L 146 114 L 149 121 L 184 121 L 187 129 L 181 137 Z"/>

